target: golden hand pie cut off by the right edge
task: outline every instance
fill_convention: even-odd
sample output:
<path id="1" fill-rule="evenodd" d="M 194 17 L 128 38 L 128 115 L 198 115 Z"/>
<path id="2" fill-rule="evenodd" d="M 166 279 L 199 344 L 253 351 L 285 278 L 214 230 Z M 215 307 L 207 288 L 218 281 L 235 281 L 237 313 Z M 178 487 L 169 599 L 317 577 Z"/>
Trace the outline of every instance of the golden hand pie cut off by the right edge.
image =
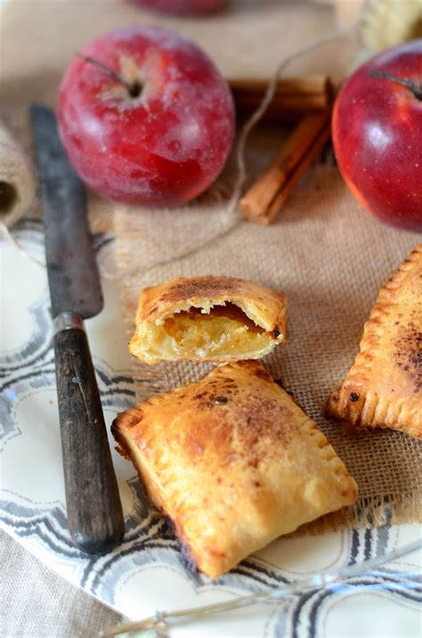
<path id="1" fill-rule="evenodd" d="M 361 351 L 326 413 L 422 437 L 422 244 L 380 289 Z"/>

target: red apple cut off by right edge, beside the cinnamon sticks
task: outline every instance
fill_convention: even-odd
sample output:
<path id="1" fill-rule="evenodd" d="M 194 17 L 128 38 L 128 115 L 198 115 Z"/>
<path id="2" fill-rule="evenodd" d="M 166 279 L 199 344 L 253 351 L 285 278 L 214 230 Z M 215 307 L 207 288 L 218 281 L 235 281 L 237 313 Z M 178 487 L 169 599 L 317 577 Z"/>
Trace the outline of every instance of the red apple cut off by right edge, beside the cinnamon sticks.
<path id="1" fill-rule="evenodd" d="M 338 166 L 362 206 L 422 230 L 422 39 L 356 70 L 337 97 L 332 128 Z"/>

